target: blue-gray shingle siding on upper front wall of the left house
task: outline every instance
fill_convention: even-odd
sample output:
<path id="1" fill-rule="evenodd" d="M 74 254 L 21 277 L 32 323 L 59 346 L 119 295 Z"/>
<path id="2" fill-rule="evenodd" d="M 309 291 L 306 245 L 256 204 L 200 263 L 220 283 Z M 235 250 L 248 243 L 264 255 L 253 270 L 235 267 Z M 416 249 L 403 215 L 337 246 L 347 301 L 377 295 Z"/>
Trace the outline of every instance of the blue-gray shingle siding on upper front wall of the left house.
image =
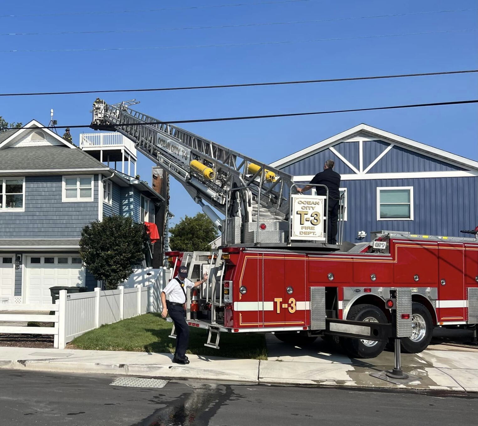
<path id="1" fill-rule="evenodd" d="M 98 220 L 98 175 L 92 202 L 62 202 L 62 176 L 26 176 L 25 211 L 0 215 L 0 238 L 79 238 Z"/>

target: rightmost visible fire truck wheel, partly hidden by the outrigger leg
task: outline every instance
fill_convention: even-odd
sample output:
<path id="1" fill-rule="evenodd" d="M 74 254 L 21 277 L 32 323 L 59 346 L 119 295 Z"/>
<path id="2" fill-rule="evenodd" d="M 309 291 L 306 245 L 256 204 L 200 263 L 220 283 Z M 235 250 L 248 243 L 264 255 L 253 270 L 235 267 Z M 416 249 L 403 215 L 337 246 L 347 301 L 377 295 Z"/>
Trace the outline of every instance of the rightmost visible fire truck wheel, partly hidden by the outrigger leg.
<path id="1" fill-rule="evenodd" d="M 433 320 L 428 309 L 418 302 L 412 303 L 412 337 L 401 341 L 402 352 L 419 353 L 430 344 L 433 335 Z"/>

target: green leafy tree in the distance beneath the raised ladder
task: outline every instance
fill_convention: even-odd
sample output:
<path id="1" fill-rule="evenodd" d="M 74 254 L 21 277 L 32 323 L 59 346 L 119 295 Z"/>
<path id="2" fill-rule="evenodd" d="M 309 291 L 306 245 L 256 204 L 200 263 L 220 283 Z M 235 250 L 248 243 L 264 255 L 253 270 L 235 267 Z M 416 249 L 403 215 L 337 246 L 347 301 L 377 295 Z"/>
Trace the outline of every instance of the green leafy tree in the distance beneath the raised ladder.
<path id="1" fill-rule="evenodd" d="M 185 252 L 209 251 L 209 243 L 217 238 L 216 227 L 204 213 L 197 213 L 194 217 L 185 216 L 169 232 L 171 249 Z"/>

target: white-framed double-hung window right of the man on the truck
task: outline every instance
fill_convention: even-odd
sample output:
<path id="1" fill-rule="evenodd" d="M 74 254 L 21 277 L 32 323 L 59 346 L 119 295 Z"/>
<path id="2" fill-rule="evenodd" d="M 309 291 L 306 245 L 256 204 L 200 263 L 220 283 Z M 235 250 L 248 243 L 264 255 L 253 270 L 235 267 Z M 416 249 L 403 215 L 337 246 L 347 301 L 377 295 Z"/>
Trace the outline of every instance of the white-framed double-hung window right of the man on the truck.
<path id="1" fill-rule="evenodd" d="M 377 188 L 377 220 L 413 220 L 413 187 Z"/>

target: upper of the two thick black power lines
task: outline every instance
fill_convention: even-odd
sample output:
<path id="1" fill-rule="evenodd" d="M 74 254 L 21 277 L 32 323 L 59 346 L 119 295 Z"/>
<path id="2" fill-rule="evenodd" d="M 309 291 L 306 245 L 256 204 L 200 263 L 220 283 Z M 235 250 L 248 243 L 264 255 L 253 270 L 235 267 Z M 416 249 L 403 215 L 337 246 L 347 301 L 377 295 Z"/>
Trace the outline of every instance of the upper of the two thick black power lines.
<path id="1" fill-rule="evenodd" d="M 429 75 L 449 75 L 449 74 L 467 74 L 467 73 L 478 73 L 478 70 L 443 71 L 438 73 L 400 74 L 400 75 L 374 75 L 374 76 L 368 76 L 368 77 L 330 78 L 330 79 L 322 79 L 322 80 L 277 81 L 277 82 L 270 82 L 270 83 L 243 83 L 243 84 L 230 84 L 230 85 L 159 87 L 159 88 L 152 88 L 152 89 L 112 89 L 112 90 L 79 90 L 79 91 L 71 91 L 71 92 L 0 93 L 0 96 L 44 96 L 44 95 L 78 95 L 78 94 L 87 94 L 87 93 L 162 92 L 162 91 L 169 91 L 169 90 L 220 89 L 220 88 L 228 88 L 228 87 L 296 85 L 296 84 L 308 84 L 308 83 L 330 83 L 330 82 L 338 82 L 338 81 L 377 80 L 381 78 L 422 77 L 422 76 L 429 76 Z"/>

